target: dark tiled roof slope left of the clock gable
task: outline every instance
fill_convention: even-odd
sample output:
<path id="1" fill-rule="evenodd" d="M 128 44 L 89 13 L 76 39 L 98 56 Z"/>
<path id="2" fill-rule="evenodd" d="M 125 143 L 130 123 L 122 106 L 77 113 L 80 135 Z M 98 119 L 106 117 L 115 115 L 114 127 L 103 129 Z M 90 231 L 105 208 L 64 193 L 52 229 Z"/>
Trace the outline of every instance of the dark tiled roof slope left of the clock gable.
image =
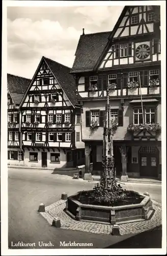
<path id="1" fill-rule="evenodd" d="M 107 42 L 109 32 L 81 35 L 70 73 L 92 71 Z"/>

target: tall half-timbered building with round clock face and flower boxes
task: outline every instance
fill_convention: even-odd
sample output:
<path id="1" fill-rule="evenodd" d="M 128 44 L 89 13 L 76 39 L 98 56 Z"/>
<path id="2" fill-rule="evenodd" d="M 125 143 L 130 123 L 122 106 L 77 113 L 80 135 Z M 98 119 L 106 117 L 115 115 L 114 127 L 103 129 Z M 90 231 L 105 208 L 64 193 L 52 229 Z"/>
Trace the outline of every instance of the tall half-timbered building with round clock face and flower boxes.
<path id="1" fill-rule="evenodd" d="M 113 31 L 80 36 L 71 69 L 82 105 L 86 170 L 102 168 L 106 87 L 116 172 L 161 176 L 160 8 L 125 6 Z"/>

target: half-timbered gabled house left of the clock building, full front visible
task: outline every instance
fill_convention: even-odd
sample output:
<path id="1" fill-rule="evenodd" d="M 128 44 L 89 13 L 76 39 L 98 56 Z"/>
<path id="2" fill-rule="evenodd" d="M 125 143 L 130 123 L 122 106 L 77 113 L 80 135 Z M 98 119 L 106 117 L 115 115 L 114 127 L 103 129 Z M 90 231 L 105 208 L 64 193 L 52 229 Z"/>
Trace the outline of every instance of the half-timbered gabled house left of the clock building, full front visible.
<path id="1" fill-rule="evenodd" d="M 20 104 L 24 165 L 61 168 L 82 164 L 81 115 L 70 68 L 42 57 Z"/>

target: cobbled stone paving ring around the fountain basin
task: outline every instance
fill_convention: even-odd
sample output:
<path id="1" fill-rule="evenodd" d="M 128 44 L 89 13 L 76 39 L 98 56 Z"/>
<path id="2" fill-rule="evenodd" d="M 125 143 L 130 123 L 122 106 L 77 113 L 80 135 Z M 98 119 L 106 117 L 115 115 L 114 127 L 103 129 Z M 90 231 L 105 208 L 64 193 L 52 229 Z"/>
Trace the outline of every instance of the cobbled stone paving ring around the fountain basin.
<path id="1" fill-rule="evenodd" d="M 143 220 L 132 223 L 119 224 L 120 234 L 128 233 L 140 233 L 158 227 L 161 225 L 161 204 L 152 200 L 153 209 L 155 210 L 154 215 L 150 220 Z M 100 224 L 95 222 L 84 222 L 76 221 L 66 214 L 65 209 L 66 200 L 59 200 L 49 206 L 45 207 L 45 212 L 40 212 L 40 214 L 52 225 L 52 220 L 54 218 L 59 218 L 61 220 L 61 228 L 79 230 L 92 233 L 103 233 L 110 234 L 112 232 L 112 225 Z"/>

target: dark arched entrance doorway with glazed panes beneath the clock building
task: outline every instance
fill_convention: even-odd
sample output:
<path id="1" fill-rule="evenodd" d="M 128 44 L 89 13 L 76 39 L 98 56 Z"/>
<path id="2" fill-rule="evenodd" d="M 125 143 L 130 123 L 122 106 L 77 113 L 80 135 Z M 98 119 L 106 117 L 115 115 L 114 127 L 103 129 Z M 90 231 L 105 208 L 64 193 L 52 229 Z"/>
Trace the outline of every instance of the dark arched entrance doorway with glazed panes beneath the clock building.
<path id="1" fill-rule="evenodd" d="M 142 146 L 139 150 L 139 161 L 141 176 L 158 176 L 159 151 L 156 146 Z"/>

